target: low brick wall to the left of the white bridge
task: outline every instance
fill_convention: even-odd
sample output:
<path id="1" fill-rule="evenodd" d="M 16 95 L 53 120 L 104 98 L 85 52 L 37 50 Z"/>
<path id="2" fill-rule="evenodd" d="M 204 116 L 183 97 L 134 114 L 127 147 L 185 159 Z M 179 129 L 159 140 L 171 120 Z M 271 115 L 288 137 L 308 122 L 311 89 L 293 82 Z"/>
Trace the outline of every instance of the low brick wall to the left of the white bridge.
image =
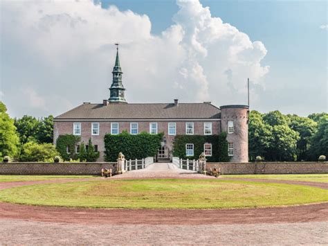
<path id="1" fill-rule="evenodd" d="M 116 162 L 0 163 L 0 175 L 101 175 L 102 168 L 116 170 Z"/>

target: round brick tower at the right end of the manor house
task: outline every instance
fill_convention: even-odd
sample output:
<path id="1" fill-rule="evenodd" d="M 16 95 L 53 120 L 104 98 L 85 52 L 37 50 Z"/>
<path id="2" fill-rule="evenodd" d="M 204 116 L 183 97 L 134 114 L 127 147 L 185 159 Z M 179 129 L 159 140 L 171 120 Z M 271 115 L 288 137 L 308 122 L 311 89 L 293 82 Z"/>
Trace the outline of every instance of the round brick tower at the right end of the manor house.
<path id="1" fill-rule="evenodd" d="M 248 162 L 248 106 L 224 105 L 221 109 L 221 132 L 227 132 L 231 162 Z"/>

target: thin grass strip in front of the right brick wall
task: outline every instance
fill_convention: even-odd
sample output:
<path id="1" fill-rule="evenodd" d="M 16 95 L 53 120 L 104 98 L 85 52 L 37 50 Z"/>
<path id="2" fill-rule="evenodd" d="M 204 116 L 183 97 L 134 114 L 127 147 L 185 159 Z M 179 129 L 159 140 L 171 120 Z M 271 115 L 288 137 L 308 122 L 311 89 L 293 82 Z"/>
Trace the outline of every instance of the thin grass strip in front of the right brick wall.
<path id="1" fill-rule="evenodd" d="M 245 179 L 276 179 L 276 180 L 297 180 L 308 182 L 328 183 L 328 174 L 263 174 L 263 175 L 222 175 L 222 177 L 240 177 Z"/>

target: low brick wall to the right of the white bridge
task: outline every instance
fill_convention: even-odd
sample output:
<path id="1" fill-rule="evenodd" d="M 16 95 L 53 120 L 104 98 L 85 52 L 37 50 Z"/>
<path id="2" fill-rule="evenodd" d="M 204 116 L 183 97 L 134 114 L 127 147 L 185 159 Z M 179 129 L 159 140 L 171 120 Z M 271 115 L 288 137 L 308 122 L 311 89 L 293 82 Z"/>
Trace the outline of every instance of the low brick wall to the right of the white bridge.
<path id="1" fill-rule="evenodd" d="M 328 173 L 328 162 L 208 162 L 206 168 L 220 168 L 222 174 Z"/>

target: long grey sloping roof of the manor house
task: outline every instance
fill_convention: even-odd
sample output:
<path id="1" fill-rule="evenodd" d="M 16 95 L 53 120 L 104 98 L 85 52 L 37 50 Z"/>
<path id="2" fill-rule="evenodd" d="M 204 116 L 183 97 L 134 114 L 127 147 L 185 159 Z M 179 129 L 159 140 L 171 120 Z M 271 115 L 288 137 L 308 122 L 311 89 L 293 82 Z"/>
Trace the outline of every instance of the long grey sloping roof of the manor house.
<path id="1" fill-rule="evenodd" d="M 58 119 L 183 119 L 183 118 L 220 118 L 220 109 L 210 103 L 128 103 L 82 105 L 69 110 Z"/>

